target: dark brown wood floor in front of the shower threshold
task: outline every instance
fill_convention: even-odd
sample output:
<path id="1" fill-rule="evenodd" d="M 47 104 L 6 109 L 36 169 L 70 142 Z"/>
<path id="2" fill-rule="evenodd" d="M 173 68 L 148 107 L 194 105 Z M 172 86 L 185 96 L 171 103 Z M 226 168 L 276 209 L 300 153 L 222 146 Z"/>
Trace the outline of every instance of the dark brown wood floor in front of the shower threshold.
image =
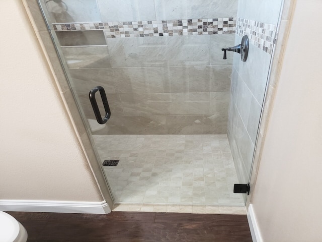
<path id="1" fill-rule="evenodd" d="M 252 241 L 246 215 L 112 212 L 7 212 L 28 241 Z"/>

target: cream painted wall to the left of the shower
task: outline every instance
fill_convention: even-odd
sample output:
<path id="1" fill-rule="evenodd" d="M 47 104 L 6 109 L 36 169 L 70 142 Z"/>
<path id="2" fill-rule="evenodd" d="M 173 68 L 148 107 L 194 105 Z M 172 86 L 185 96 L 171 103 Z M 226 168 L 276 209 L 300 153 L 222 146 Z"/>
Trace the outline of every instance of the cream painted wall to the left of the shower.
<path id="1" fill-rule="evenodd" d="M 0 200 L 103 201 L 20 0 L 0 23 Z"/>

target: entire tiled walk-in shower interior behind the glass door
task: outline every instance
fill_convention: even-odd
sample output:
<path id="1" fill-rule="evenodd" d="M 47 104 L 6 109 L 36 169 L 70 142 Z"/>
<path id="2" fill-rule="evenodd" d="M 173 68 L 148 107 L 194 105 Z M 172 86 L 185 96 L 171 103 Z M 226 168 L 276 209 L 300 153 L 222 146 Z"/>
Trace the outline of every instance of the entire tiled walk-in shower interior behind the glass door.
<path id="1" fill-rule="evenodd" d="M 281 1 L 273 22 L 243 2 L 39 0 L 99 160 L 119 160 L 103 167 L 115 203 L 245 205 L 233 184 L 249 180 Z M 243 35 L 248 61 L 223 59 Z"/>

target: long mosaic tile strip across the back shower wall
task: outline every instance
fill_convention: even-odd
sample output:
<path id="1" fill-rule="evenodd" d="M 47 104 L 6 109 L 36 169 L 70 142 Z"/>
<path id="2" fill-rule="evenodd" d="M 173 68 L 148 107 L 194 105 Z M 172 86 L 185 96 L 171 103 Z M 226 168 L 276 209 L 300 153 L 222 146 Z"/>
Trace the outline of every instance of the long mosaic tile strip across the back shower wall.
<path id="1" fill-rule="evenodd" d="M 55 31 L 104 30 L 107 38 L 233 34 L 236 18 L 53 24 Z"/>

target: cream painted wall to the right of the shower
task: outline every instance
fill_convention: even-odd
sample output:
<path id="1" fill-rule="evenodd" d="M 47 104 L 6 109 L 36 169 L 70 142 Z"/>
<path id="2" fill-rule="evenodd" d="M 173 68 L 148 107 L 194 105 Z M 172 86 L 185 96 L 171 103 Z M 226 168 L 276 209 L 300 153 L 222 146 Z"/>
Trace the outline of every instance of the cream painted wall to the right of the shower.
<path id="1" fill-rule="evenodd" d="M 264 241 L 322 239 L 320 0 L 297 0 L 254 190 Z"/>

